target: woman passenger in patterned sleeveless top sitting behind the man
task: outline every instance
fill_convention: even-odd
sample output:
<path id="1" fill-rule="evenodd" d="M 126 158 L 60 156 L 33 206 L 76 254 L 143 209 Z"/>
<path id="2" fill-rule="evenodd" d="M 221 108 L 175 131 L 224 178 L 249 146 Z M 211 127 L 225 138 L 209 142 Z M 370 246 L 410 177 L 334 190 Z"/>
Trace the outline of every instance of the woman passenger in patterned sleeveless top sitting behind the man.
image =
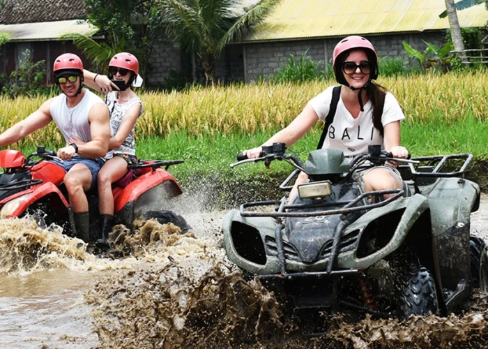
<path id="1" fill-rule="evenodd" d="M 139 61 L 133 54 L 120 52 L 110 59 L 108 76 L 84 70 L 84 83 L 91 89 L 102 91 L 110 112 L 109 151 L 97 177 L 101 238 L 97 240 L 96 246 L 106 249 L 109 247 L 108 234 L 115 223 L 112 184 L 128 174 L 128 165 L 138 161 L 135 156 L 134 131 L 144 108 L 132 87 L 142 85 Z M 73 142 L 78 143 L 76 139 Z"/>

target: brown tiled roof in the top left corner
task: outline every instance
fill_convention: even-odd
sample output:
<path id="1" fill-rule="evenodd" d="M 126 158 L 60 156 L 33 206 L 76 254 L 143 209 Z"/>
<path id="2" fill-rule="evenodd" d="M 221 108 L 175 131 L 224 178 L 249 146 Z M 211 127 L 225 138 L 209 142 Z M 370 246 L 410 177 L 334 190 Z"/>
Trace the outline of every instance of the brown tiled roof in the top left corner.
<path id="1" fill-rule="evenodd" d="M 8 0 L 0 24 L 86 19 L 83 0 Z"/>

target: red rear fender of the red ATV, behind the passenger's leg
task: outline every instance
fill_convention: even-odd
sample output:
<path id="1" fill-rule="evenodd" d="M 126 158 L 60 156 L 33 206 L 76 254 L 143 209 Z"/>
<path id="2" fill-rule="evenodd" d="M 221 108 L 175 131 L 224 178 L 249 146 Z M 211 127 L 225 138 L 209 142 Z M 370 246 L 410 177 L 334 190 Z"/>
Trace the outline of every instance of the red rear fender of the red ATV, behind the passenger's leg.
<path id="1" fill-rule="evenodd" d="M 116 223 L 132 230 L 138 214 L 162 209 L 167 198 L 183 193 L 174 177 L 162 168 L 142 174 L 114 195 Z"/>

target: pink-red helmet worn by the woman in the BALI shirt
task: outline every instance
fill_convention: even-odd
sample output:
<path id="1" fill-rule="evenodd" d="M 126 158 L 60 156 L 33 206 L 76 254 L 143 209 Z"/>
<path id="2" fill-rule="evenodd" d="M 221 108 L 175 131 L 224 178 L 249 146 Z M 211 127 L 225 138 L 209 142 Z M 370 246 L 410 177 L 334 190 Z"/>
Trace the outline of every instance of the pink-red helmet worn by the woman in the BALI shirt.
<path id="1" fill-rule="evenodd" d="M 348 36 L 340 40 L 337 45 L 334 47 L 333 52 L 333 59 L 332 59 L 332 66 L 334 68 L 334 75 L 335 80 L 340 84 L 347 85 L 346 79 L 344 78 L 344 73 L 342 73 L 342 59 L 337 60 L 341 54 L 344 56 L 345 52 L 348 52 L 353 49 L 364 49 L 369 61 L 373 63 L 373 70 L 371 75 L 369 75 L 369 80 L 374 80 L 378 77 L 378 54 L 376 54 L 376 50 L 374 50 L 373 44 L 369 42 L 363 36 Z"/>

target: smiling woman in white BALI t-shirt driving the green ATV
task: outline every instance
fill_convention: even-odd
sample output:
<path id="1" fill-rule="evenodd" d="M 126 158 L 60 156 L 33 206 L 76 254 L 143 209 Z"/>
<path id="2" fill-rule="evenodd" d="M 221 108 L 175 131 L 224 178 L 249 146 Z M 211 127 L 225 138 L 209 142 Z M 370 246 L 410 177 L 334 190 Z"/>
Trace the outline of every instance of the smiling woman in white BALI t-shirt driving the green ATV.
<path id="1" fill-rule="evenodd" d="M 400 146 L 400 121 L 405 117 L 396 98 L 374 81 L 378 77 L 378 55 L 372 43 L 361 36 L 348 36 L 334 48 L 333 70 L 342 86 L 333 122 L 326 130 L 323 148 L 340 149 L 345 156 L 367 152 L 369 144 L 382 144 L 395 158 L 407 158 L 409 151 Z M 286 128 L 275 133 L 263 145 L 282 142 L 290 146 L 314 124 L 325 121 L 332 101 L 333 87 L 312 98 L 303 111 Z M 330 117 L 330 116 L 329 116 Z M 243 151 L 249 158 L 257 158 L 262 146 Z M 389 163 L 365 172 L 365 191 L 402 188 L 402 178 Z M 300 173 L 290 200 L 298 184 L 307 180 Z"/>

